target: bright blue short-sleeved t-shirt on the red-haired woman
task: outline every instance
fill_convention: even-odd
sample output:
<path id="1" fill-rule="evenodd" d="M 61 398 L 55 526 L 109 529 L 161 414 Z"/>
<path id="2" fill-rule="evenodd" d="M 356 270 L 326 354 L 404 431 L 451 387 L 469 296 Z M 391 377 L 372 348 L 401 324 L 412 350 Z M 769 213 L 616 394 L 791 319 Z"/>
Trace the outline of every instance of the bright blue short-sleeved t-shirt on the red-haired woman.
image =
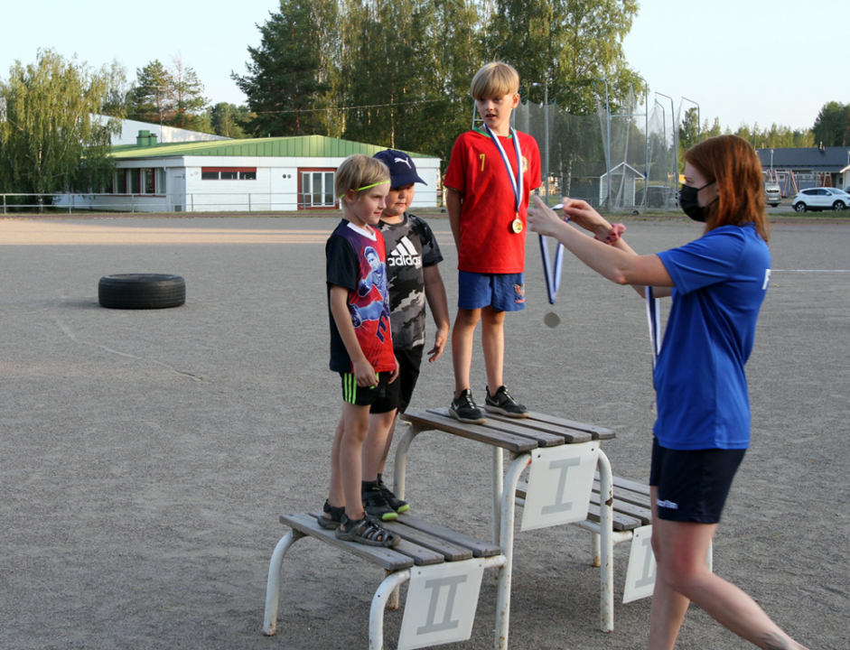
<path id="1" fill-rule="evenodd" d="M 743 367 L 771 278 L 771 252 L 744 224 L 715 228 L 659 257 L 676 286 L 655 368 L 653 431 L 672 450 L 747 449 Z"/>

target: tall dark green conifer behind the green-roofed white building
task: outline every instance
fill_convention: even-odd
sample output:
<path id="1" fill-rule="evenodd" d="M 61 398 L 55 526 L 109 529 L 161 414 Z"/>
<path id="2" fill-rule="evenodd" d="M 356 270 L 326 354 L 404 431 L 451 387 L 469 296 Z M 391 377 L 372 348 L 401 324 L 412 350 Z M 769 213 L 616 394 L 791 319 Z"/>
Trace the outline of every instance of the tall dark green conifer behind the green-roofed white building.
<path id="1" fill-rule="evenodd" d="M 257 114 L 247 126 L 257 136 L 313 135 L 327 126 L 322 107 L 332 87 L 323 79 L 322 52 L 332 48 L 337 5 L 326 0 L 281 0 L 280 11 L 258 26 L 248 47 L 248 74 L 230 77 Z M 339 59 L 328 61 L 339 64 Z"/>

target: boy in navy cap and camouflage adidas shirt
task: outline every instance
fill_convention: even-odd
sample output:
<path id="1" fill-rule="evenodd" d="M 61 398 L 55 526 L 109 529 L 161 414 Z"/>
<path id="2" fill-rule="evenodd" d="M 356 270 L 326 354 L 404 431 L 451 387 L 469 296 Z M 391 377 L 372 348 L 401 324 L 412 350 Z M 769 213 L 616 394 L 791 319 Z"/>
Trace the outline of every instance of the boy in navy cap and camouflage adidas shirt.
<path id="1" fill-rule="evenodd" d="M 425 349 L 425 302 L 437 328 L 434 348 L 427 353 L 429 362 L 443 354 L 450 323 L 443 277 L 437 267 L 443 261 L 440 246 L 425 220 L 407 212 L 416 183 L 427 183 L 406 153 L 387 149 L 374 157 L 389 168 L 387 207 L 378 229 L 384 236 L 390 270 L 390 327 L 399 366 L 398 379 L 387 386 L 386 397 L 372 404 L 369 434 L 363 443 L 363 503 L 370 515 L 383 519 L 382 515 L 401 514 L 410 508 L 384 485 L 382 474 L 397 413 L 405 412 L 419 378 Z"/>

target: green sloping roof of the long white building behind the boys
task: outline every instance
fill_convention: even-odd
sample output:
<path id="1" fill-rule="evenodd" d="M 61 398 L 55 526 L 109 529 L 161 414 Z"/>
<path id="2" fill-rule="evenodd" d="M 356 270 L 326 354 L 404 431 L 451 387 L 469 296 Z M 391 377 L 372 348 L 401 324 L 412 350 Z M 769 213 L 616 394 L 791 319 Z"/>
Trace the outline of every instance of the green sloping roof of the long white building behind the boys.
<path id="1" fill-rule="evenodd" d="M 327 137 L 299 135 L 296 137 L 256 138 L 248 140 L 207 140 L 191 143 L 153 144 L 137 146 L 124 144 L 112 147 L 117 159 L 162 158 L 175 156 L 302 156 L 310 158 L 345 158 L 353 153 L 372 156 L 387 149 L 377 144 L 362 144 Z M 412 158 L 434 158 L 424 153 L 405 152 Z"/>

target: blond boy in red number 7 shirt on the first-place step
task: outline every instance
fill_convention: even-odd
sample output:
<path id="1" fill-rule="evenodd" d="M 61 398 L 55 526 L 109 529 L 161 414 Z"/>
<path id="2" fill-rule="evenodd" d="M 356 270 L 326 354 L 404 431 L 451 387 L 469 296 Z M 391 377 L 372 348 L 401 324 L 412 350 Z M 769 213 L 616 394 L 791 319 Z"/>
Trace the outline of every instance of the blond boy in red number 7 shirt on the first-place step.
<path id="1" fill-rule="evenodd" d="M 509 417 L 528 409 L 509 394 L 502 377 L 506 311 L 525 309 L 528 195 L 542 184 L 540 153 L 530 135 L 510 126 L 519 104 L 519 75 L 492 62 L 472 78 L 481 130 L 454 143 L 444 185 L 458 254 L 458 311 L 452 332 L 454 399 L 449 412 L 461 422 L 485 422 L 472 400 L 470 367 L 475 328 L 487 368 L 484 408 Z"/>

